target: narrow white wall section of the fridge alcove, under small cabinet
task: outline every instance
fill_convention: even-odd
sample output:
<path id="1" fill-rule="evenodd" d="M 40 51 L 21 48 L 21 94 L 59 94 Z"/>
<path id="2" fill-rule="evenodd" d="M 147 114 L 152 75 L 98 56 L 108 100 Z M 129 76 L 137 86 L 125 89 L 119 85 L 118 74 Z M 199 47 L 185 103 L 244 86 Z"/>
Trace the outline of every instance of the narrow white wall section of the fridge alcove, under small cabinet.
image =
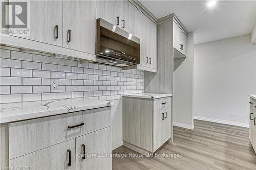
<path id="1" fill-rule="evenodd" d="M 173 117 L 174 126 L 194 129 L 193 122 L 193 64 L 194 33 L 187 37 L 187 57 L 175 59 Z"/>

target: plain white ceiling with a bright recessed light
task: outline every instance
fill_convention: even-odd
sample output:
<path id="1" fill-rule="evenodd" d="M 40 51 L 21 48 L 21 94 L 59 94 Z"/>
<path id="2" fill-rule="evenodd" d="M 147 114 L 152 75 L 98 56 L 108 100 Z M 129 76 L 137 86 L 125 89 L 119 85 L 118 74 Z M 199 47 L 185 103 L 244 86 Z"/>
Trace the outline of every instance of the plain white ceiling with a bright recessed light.
<path id="1" fill-rule="evenodd" d="M 194 43 L 250 34 L 256 23 L 256 1 L 217 1 L 213 8 L 208 1 L 139 0 L 158 19 L 171 13 L 194 32 Z"/>

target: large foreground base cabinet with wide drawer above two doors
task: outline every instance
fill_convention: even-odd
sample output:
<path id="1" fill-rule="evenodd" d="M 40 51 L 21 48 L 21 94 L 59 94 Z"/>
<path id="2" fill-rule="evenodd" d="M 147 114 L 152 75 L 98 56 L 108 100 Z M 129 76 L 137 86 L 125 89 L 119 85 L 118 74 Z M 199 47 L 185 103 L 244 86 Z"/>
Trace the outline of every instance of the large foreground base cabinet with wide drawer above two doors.
<path id="1" fill-rule="evenodd" d="M 6 157 L 14 169 L 112 168 L 110 106 L 5 126 L 9 137 Z"/>

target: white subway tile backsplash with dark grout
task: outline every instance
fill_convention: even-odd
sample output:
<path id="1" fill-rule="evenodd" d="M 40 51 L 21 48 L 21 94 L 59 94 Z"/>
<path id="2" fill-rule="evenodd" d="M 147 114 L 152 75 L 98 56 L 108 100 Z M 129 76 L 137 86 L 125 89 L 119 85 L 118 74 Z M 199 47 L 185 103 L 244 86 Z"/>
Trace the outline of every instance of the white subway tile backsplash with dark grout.
<path id="1" fill-rule="evenodd" d="M 140 70 L 121 70 L 97 63 L 80 63 L 72 58 L 57 59 L 47 54 L 12 51 L 14 49 L 1 49 L 0 94 L 7 98 L 5 102 L 82 96 L 114 100 L 121 99 L 124 93 L 144 92 L 144 72 Z M 58 90 L 51 90 L 51 79 L 58 79 Z"/>

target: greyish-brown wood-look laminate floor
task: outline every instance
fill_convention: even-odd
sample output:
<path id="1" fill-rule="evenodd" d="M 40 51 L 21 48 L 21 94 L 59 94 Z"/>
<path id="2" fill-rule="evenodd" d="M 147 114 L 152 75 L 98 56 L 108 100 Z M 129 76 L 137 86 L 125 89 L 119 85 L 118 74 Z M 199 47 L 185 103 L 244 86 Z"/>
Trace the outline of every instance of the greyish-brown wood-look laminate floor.
<path id="1" fill-rule="evenodd" d="M 174 127 L 174 142 L 158 150 L 179 157 L 113 157 L 112 169 L 256 169 L 248 128 L 201 120 L 195 120 L 194 126 L 194 130 Z M 113 151 L 129 153 L 138 154 L 123 146 Z"/>

